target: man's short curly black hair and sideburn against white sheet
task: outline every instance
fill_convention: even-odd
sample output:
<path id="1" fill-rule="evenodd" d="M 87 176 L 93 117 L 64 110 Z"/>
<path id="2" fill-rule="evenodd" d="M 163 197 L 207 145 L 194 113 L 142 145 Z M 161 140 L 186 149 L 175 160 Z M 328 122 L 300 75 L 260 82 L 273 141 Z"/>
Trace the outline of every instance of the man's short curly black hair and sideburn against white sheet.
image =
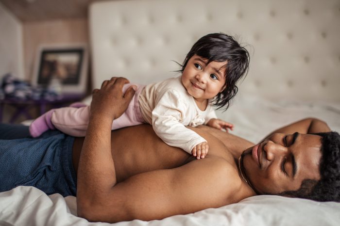
<path id="1" fill-rule="evenodd" d="M 340 202 L 340 135 L 338 132 L 313 134 L 322 137 L 320 180 L 305 179 L 298 190 L 285 191 L 279 195 Z"/>

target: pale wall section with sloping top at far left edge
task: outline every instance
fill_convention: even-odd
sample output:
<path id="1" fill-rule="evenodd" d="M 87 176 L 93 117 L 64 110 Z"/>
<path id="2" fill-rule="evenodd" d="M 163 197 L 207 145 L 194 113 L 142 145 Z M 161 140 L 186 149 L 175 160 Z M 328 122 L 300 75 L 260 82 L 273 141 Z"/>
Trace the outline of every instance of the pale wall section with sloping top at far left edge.
<path id="1" fill-rule="evenodd" d="M 22 25 L 1 3 L 0 31 L 0 77 L 11 72 L 18 78 L 25 78 Z"/>

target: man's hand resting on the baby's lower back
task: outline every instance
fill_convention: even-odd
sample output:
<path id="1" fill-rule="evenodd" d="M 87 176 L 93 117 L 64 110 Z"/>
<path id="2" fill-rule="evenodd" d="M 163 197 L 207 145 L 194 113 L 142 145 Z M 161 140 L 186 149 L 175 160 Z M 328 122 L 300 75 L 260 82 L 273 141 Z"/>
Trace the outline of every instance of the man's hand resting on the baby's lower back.
<path id="1" fill-rule="evenodd" d="M 123 94 L 123 85 L 126 83 L 129 83 L 127 79 L 116 77 L 103 81 L 101 89 L 94 89 L 92 92 L 90 114 L 110 119 L 116 119 L 122 115 L 136 90 L 136 86 L 132 85 Z"/>

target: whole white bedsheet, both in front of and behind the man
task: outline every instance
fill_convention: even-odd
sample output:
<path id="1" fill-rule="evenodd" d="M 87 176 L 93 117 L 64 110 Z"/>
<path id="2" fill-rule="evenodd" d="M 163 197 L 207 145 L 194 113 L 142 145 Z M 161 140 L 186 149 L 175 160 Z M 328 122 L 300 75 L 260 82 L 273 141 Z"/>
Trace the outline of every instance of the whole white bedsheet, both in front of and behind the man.
<path id="1" fill-rule="evenodd" d="M 234 105 L 218 115 L 235 124 L 234 134 L 253 142 L 284 124 L 307 116 L 323 119 L 340 131 L 340 103 L 264 102 L 256 97 L 239 96 Z M 83 226 L 110 225 L 88 223 L 76 216 L 76 198 L 50 196 L 33 187 L 17 187 L 0 193 L 0 225 Z M 150 222 L 134 220 L 115 226 L 339 226 L 340 203 L 259 195 L 237 204 L 176 215 Z"/>

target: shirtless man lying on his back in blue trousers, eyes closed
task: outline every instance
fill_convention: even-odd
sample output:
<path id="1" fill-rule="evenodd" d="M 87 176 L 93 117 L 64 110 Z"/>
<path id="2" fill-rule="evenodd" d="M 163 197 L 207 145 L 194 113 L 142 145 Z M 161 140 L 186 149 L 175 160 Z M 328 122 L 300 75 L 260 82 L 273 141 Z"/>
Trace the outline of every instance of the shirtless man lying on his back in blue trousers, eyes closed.
<path id="1" fill-rule="evenodd" d="M 100 90 L 94 90 L 85 138 L 76 138 L 69 143 L 70 138 L 67 137 L 58 143 L 56 140 L 65 134 L 54 131 L 56 135 L 48 134 L 48 137 L 43 135 L 38 139 L 7 141 L 8 144 L 3 142 L 0 145 L 0 163 L 6 163 L 8 171 L 2 174 L 6 174 L 3 178 L 0 175 L 1 191 L 11 189 L 11 186 L 31 185 L 48 194 L 60 192 L 68 195 L 73 190 L 75 193 L 75 185 L 72 185 L 76 180 L 75 176 L 72 179 L 66 175 L 67 171 L 71 171 L 70 174 L 73 172 L 64 165 L 67 160 L 51 163 L 51 158 L 48 157 L 50 154 L 47 154 L 51 153 L 53 158 L 61 156 L 72 159 L 71 168 L 74 167 L 78 175 L 78 216 L 89 221 L 162 219 L 175 214 L 218 208 L 256 194 L 283 194 L 339 201 L 339 134 L 305 134 L 330 131 L 324 122 L 310 118 L 301 120 L 274 131 L 259 145 L 217 129 L 192 128 L 210 144 L 206 158 L 196 160 L 186 152 L 164 144 L 149 125 L 111 132 L 112 121 L 125 111 L 134 94 L 132 88 L 122 94 L 121 88 L 126 82 L 122 78 L 113 78 L 104 81 Z M 115 105 L 112 105 L 113 99 Z M 22 136 L 18 133 L 15 135 Z M 49 142 L 46 141 L 48 139 Z M 16 146 L 16 143 L 19 144 Z M 23 151 L 17 152 L 23 144 Z M 333 146 L 325 148 L 329 144 Z M 56 148 L 49 152 L 40 152 L 37 149 L 40 146 L 44 146 L 44 149 L 51 146 Z M 67 153 L 59 152 L 69 146 L 71 151 L 68 153 L 73 158 Z M 20 155 L 33 149 L 35 155 L 41 155 L 44 161 L 48 159 L 48 167 L 40 174 L 43 167 L 34 166 L 39 170 L 30 173 L 29 179 L 25 178 L 24 182 L 16 181 L 12 183 L 15 185 L 1 188 L 4 187 L 4 182 L 8 183 L 14 177 L 11 175 L 17 168 L 19 170 L 15 175 L 23 174 L 24 171 L 20 168 L 22 164 L 20 167 L 10 168 L 7 163 L 17 158 L 14 154 L 6 154 L 11 148 L 13 153 Z M 324 149 L 331 149 L 331 154 L 325 154 Z M 5 154 L 1 156 L 2 152 Z M 33 158 L 31 156 L 35 155 L 30 153 L 29 157 Z M 10 156 L 10 160 L 8 157 L 5 159 L 6 156 Z M 336 159 L 331 159 L 330 156 L 335 156 Z M 15 159 L 16 164 L 17 162 Z M 23 162 L 32 164 L 32 160 Z M 333 178 L 329 177 L 330 171 L 324 167 L 324 162 L 332 163 Z M 62 167 L 58 168 L 58 164 Z M 68 170 L 65 171 L 65 168 Z M 59 171 L 64 171 L 64 174 L 55 173 Z M 328 173 L 327 177 L 324 172 Z M 38 176 L 32 178 L 31 175 Z M 50 176 L 43 180 L 39 175 Z M 327 193 L 320 184 L 329 185 L 328 196 L 320 194 Z M 65 186 L 62 187 L 63 185 Z M 311 192 L 314 190 L 316 192 Z"/>

